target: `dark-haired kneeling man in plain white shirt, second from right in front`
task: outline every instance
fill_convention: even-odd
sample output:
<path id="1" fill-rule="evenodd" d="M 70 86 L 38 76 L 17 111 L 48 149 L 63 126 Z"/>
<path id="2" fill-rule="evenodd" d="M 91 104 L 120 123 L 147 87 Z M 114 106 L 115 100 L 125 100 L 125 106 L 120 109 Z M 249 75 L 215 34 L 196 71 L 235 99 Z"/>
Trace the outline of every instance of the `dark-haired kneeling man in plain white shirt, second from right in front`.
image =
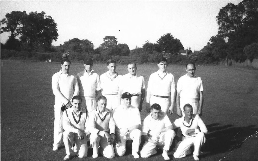
<path id="1" fill-rule="evenodd" d="M 159 146 L 163 148 L 164 159 L 170 159 L 167 152 L 176 134 L 167 114 L 160 109 L 161 107 L 157 103 L 151 105 L 151 113 L 143 121 L 142 135 L 145 143 L 141 150 L 142 158 L 156 154 L 155 147 Z"/>

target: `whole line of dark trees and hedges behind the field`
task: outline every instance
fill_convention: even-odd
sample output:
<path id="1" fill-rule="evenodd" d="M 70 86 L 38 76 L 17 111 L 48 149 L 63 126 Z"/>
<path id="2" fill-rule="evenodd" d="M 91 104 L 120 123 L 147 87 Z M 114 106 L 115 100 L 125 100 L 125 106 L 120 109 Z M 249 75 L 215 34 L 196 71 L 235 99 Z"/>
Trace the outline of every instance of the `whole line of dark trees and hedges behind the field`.
<path id="1" fill-rule="evenodd" d="M 106 36 L 103 43 L 96 49 L 90 40 L 70 39 L 60 46 L 51 43 L 58 38 L 57 24 L 45 12 L 37 13 L 12 11 L 1 20 L 1 33 L 10 32 L 5 44 L 1 43 L 1 58 L 38 56 L 37 52 L 45 52 L 37 58 L 61 59 L 62 53 L 69 52 L 70 59 L 83 60 L 92 56 L 96 61 L 105 62 L 113 58 L 118 62 L 134 60 L 138 63 L 156 62 L 160 56 L 165 56 L 169 62 L 184 63 L 195 61 L 199 63 L 217 63 L 226 58 L 242 62 L 258 58 L 258 2 L 242 1 L 237 5 L 232 3 L 222 7 L 216 16 L 219 30 L 212 36 L 210 45 L 204 51 L 180 55 L 184 49 L 179 39 L 171 33 L 162 35 L 156 43 L 149 42 L 142 47 L 131 50 L 127 44 L 117 43 L 114 36 Z"/>

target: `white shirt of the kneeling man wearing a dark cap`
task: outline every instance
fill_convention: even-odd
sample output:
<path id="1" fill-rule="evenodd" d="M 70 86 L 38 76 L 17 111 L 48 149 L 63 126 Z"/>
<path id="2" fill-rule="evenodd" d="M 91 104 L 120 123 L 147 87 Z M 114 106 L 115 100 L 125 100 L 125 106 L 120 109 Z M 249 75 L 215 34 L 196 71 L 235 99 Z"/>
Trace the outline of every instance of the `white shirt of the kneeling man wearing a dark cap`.
<path id="1" fill-rule="evenodd" d="M 119 105 L 113 111 L 113 118 L 116 127 L 119 129 L 127 129 L 135 125 L 141 125 L 141 115 L 138 108 L 126 108 L 125 105 Z"/>

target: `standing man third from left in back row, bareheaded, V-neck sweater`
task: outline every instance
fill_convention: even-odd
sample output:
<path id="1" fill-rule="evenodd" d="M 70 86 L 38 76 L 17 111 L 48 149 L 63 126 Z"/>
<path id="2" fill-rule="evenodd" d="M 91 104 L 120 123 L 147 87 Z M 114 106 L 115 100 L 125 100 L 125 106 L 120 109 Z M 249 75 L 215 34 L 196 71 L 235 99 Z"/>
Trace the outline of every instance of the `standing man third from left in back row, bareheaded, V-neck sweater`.
<path id="1" fill-rule="evenodd" d="M 107 98 L 107 109 L 114 110 L 118 106 L 118 89 L 122 75 L 116 72 L 116 61 L 107 61 L 108 71 L 100 75 L 101 93 Z"/>

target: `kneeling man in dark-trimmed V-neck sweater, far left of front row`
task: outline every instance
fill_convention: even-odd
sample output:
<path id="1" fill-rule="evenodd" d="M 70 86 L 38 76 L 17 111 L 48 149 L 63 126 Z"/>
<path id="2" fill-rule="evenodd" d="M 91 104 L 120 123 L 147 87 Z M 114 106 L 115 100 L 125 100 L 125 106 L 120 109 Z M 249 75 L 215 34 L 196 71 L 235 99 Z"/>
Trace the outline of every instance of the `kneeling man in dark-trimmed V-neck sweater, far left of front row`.
<path id="1" fill-rule="evenodd" d="M 66 156 L 63 160 L 69 160 L 72 156 L 72 145 L 75 143 L 76 153 L 79 158 L 87 157 L 87 140 L 90 135 L 88 130 L 88 112 L 81 108 L 80 96 L 72 97 L 72 108 L 63 112 L 63 141 Z"/>

